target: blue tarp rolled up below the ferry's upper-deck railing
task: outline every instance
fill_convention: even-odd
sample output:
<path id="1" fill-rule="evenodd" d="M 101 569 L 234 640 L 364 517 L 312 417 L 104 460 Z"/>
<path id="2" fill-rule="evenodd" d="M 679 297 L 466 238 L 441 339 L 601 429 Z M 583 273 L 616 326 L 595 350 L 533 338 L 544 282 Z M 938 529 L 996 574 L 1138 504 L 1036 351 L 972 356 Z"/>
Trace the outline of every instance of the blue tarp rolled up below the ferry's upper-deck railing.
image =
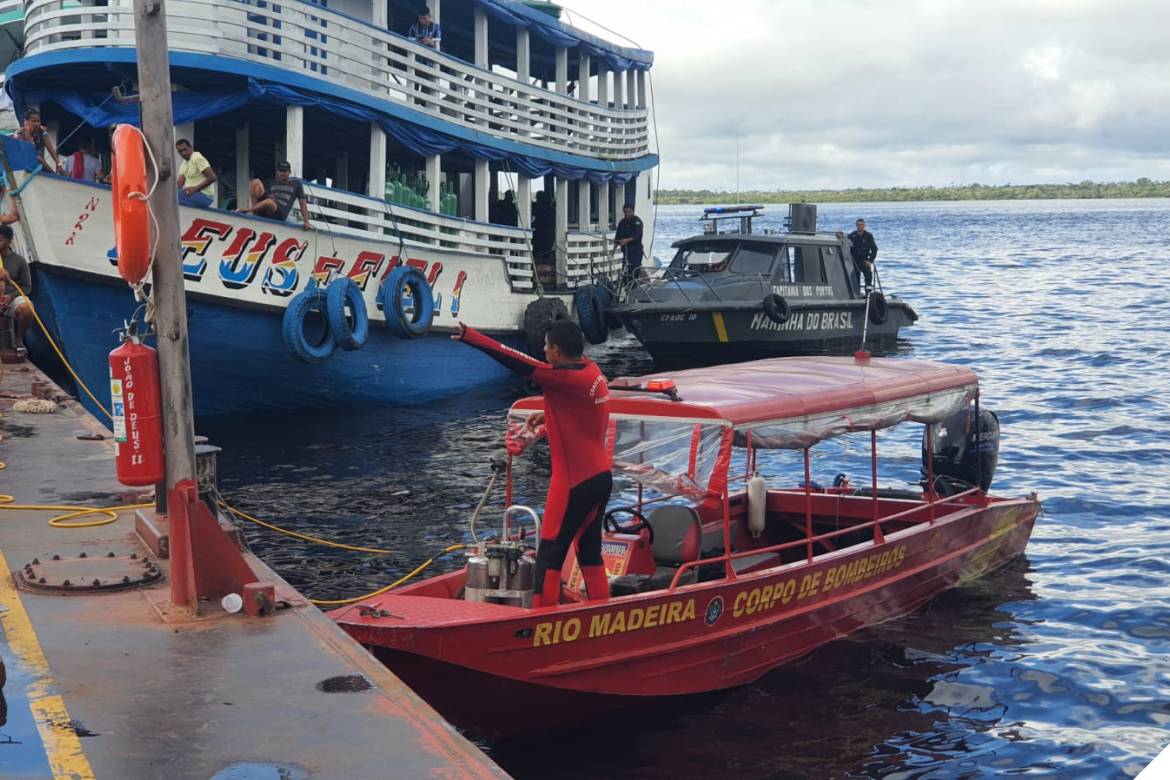
<path id="1" fill-rule="evenodd" d="M 118 103 L 109 99 L 108 95 L 39 90 L 22 94 L 21 98 L 26 104 L 55 101 L 62 108 L 77 115 L 87 124 L 95 127 L 109 127 L 115 124 L 138 124 L 137 103 Z M 415 154 L 424 157 L 460 152 L 476 159 L 503 163 L 508 170 L 526 177 L 536 178 L 551 173 L 570 181 L 589 179 L 599 184 L 612 181 L 622 185 L 638 174 L 636 171 L 605 170 L 605 166 L 608 164 L 604 160 L 597 161 L 597 165 L 600 166 L 599 168 L 577 167 L 548 160 L 535 154 L 511 152 L 487 144 L 476 144 L 349 101 L 316 95 L 305 90 L 263 82 L 256 78 L 248 80 L 247 90 L 232 92 L 174 92 L 171 101 L 174 109 L 174 124 L 177 125 L 216 117 L 241 109 L 250 103 L 305 105 L 319 108 L 346 119 L 377 122 L 394 140 Z M 653 158 L 651 160 L 656 161 Z"/>

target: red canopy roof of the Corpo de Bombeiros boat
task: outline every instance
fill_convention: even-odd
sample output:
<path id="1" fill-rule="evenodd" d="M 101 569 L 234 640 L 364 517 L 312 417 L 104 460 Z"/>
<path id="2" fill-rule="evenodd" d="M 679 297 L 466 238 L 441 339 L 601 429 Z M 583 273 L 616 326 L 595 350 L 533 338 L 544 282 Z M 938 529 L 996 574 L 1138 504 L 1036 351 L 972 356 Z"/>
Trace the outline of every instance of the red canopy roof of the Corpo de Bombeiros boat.
<path id="1" fill-rule="evenodd" d="M 652 382 L 673 382 L 679 400 L 645 392 Z M 938 422 L 970 402 L 978 379 L 969 368 L 927 360 L 773 358 L 621 378 L 610 391 L 610 414 L 619 420 L 730 426 L 741 444 L 750 435 L 752 447 L 804 449 L 854 430 Z M 521 414 L 542 408 L 539 396 L 512 406 Z"/>

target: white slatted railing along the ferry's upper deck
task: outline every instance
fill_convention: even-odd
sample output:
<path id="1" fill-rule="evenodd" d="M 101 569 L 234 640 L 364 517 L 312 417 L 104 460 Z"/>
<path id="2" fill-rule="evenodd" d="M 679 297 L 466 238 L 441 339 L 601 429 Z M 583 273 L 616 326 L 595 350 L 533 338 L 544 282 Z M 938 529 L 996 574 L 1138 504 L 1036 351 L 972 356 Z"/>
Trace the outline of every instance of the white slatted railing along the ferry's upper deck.
<path id="1" fill-rule="evenodd" d="M 321 91 L 355 90 L 374 105 L 387 101 L 443 124 L 559 152 L 610 160 L 649 153 L 645 108 L 579 101 L 303 0 L 170 0 L 166 14 L 173 53 L 277 68 L 318 80 Z M 132 49 L 133 8 L 128 0 L 29 0 L 25 32 L 26 55 Z"/>

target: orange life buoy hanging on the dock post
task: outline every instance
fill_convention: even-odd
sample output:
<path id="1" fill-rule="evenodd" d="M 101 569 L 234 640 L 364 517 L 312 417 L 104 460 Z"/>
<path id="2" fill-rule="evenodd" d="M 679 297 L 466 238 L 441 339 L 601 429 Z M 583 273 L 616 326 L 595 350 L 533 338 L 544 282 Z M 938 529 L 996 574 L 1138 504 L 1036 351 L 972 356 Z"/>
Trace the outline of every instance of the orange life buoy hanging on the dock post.
<path id="1" fill-rule="evenodd" d="M 138 284 L 150 270 L 150 212 L 146 207 L 146 153 L 130 125 L 113 130 L 113 246 L 118 274 Z"/>

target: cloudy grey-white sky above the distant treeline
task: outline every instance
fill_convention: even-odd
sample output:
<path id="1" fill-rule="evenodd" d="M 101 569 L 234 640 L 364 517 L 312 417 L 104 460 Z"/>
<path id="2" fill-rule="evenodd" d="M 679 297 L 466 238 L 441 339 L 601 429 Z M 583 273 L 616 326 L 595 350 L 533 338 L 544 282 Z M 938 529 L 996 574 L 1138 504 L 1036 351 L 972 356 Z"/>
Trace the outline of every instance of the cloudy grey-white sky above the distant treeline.
<path id="1" fill-rule="evenodd" d="M 1170 179 L 1170 0 L 563 5 L 655 53 L 663 187 Z"/>

